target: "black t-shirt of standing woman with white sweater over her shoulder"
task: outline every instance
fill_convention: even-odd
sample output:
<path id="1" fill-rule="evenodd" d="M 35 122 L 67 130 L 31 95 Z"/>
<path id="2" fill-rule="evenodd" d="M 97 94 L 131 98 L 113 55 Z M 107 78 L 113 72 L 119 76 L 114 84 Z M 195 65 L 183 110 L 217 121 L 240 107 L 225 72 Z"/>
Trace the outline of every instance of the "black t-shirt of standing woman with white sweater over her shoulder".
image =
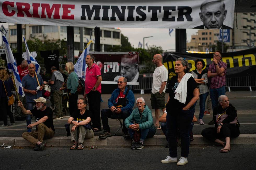
<path id="1" fill-rule="evenodd" d="M 182 108 L 184 108 L 189 102 L 190 100 L 194 97 L 193 96 L 193 91 L 194 89 L 197 87 L 196 85 L 196 81 L 193 77 L 190 77 L 188 79 L 187 82 L 187 99 L 185 104 L 179 102 L 178 100 L 174 99 L 175 93 L 172 90 L 172 87 L 174 87 L 175 83 L 178 82 L 178 76 L 173 76 L 170 80 L 170 83 L 168 84 L 168 90 L 169 90 L 169 96 L 170 96 L 170 100 L 166 105 L 166 111 L 169 114 L 176 114 L 178 110 L 181 110 Z M 194 106 L 191 106 L 191 108 Z"/>

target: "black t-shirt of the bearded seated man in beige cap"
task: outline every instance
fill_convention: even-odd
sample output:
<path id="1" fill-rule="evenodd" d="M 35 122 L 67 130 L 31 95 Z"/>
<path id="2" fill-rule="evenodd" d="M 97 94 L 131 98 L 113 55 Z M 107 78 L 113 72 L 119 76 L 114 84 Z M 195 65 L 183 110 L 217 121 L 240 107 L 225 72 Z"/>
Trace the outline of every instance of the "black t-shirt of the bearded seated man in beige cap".
<path id="1" fill-rule="evenodd" d="M 34 108 L 30 111 L 33 114 L 33 116 L 36 117 L 36 122 L 39 121 L 40 118 L 47 116 L 48 119 L 44 122 L 45 126 L 47 126 L 48 128 L 51 128 L 51 130 L 55 131 L 54 125 L 53 125 L 53 111 L 51 110 L 51 108 L 46 107 L 46 109 L 44 111 L 37 110 L 37 108 Z M 37 126 L 36 126 L 36 130 L 37 130 Z"/>

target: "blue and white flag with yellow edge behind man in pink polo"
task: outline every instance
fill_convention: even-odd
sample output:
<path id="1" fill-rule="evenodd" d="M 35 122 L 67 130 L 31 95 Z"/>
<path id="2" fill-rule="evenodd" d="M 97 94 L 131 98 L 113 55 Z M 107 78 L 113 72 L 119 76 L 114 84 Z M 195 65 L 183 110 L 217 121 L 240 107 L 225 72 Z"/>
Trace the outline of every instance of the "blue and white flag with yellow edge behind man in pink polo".
<path id="1" fill-rule="evenodd" d="M 89 54 L 91 42 L 92 42 L 92 40 L 90 40 L 87 43 L 86 47 L 84 48 L 83 53 L 80 55 L 79 59 L 77 60 L 77 62 L 74 65 L 75 73 L 77 73 L 78 77 L 82 77 L 84 80 L 85 80 L 85 70 L 87 67 L 87 65 L 85 63 L 85 58 L 86 58 L 86 55 Z"/>

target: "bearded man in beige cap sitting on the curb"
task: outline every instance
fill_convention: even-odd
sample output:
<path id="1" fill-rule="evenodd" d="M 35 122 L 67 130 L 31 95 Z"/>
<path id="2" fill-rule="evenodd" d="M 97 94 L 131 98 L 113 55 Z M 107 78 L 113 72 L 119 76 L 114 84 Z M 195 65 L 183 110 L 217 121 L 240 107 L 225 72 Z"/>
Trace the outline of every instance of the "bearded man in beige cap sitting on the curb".
<path id="1" fill-rule="evenodd" d="M 27 126 L 28 128 L 36 126 L 36 131 L 25 132 L 22 134 L 22 137 L 36 145 L 34 150 L 42 151 L 46 146 L 46 142 L 43 143 L 43 140 L 53 138 L 54 136 L 53 111 L 46 106 L 45 98 L 39 97 L 34 99 L 34 101 L 36 102 L 36 108 L 32 110 L 26 110 L 22 102 L 18 102 L 18 106 L 24 114 L 36 117 L 36 122 Z"/>

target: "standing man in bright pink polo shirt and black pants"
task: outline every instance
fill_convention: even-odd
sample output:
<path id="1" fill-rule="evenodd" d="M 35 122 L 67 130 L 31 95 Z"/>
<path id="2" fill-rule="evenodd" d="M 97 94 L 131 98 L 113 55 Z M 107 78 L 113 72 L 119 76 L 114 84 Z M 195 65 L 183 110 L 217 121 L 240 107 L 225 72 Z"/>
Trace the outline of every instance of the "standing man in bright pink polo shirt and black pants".
<path id="1" fill-rule="evenodd" d="M 93 131 L 101 130 L 101 70 L 100 67 L 94 63 L 95 57 L 88 54 L 85 58 L 85 63 L 88 65 L 85 72 L 85 91 L 84 98 L 88 97 L 89 110 L 92 112 L 91 122 L 93 123 Z"/>

